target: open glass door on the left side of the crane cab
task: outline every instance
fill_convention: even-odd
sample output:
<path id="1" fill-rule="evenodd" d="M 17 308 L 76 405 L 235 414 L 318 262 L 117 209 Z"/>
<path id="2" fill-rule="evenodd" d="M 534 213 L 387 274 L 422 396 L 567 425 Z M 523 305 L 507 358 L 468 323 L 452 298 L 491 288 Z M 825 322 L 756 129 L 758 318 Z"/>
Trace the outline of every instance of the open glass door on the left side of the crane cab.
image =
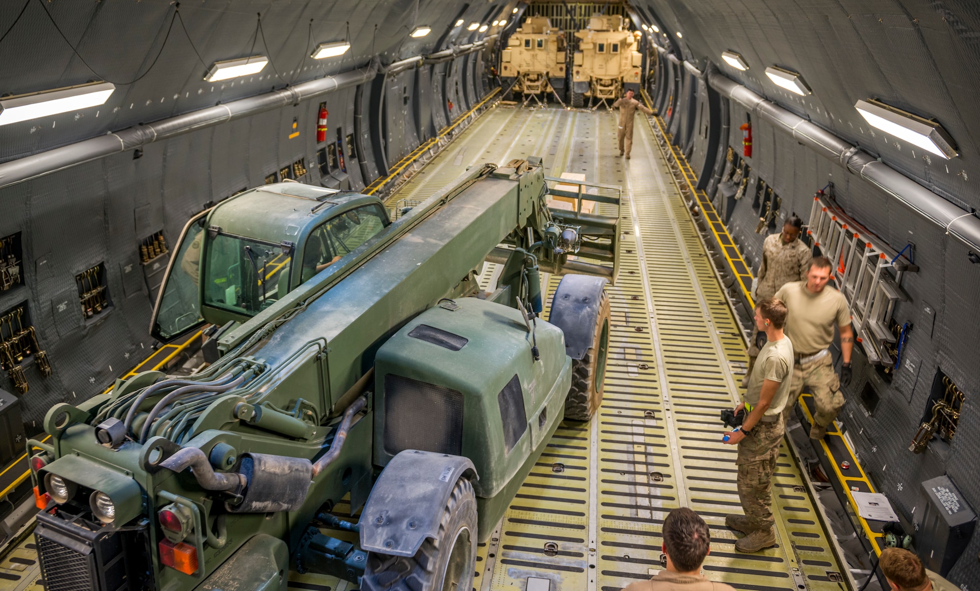
<path id="1" fill-rule="evenodd" d="M 184 225 L 175 254 L 167 266 L 150 320 L 150 334 L 162 343 L 205 323 L 201 318 L 200 268 L 210 212 L 210 209 L 205 210 Z"/>

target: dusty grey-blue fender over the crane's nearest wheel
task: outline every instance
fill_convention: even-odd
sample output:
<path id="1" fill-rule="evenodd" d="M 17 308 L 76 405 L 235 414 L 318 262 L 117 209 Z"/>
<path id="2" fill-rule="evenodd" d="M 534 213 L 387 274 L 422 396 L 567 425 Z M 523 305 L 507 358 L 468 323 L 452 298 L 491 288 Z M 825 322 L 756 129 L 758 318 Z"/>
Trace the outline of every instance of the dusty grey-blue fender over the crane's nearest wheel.
<path id="1" fill-rule="evenodd" d="M 426 538 L 439 534 L 439 521 L 460 477 L 476 480 L 468 458 L 405 450 L 381 471 L 368 496 L 361 524 L 361 549 L 413 557 Z"/>

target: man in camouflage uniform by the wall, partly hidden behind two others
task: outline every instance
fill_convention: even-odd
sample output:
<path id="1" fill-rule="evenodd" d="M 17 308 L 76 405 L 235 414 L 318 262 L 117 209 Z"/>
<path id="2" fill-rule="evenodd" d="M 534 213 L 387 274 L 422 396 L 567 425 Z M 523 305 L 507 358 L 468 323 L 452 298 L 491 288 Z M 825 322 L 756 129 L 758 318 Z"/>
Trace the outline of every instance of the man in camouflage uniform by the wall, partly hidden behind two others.
<path id="1" fill-rule="evenodd" d="M 807 278 L 807 266 L 813 257 L 809 246 L 800 240 L 803 221 L 793 216 L 783 223 L 783 231 L 770 234 L 762 243 L 762 263 L 759 266 L 759 285 L 756 287 L 755 300 L 759 302 L 776 295 L 779 288 L 790 281 L 802 281 Z M 756 364 L 759 350 L 765 344 L 764 333 L 753 326 L 752 338 L 749 339 L 749 368 L 742 378 L 742 387 L 749 386 L 749 376 Z"/>

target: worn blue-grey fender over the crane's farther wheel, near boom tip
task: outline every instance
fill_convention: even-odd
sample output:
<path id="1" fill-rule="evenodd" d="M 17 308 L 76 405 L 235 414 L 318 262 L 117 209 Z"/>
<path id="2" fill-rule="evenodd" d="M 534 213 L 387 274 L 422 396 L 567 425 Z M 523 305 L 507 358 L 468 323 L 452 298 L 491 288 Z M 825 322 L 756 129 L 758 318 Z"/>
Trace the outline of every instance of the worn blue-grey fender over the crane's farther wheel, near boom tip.
<path id="1" fill-rule="evenodd" d="M 552 296 L 548 321 L 564 332 L 564 353 L 571 359 L 582 359 L 593 345 L 599 303 L 608 282 L 605 277 L 567 274 Z"/>

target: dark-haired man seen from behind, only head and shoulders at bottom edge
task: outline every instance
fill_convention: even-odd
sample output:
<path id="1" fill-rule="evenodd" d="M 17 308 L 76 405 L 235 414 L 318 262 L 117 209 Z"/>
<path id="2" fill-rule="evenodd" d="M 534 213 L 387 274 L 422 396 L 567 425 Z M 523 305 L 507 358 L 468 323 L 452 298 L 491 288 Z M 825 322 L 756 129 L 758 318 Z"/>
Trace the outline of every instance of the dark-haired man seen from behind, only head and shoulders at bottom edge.
<path id="1" fill-rule="evenodd" d="M 663 519 L 666 570 L 658 570 L 649 581 L 636 581 L 623 591 L 735 591 L 701 574 L 701 564 L 711 552 L 711 531 L 698 514 L 686 507 L 672 510 Z"/>

